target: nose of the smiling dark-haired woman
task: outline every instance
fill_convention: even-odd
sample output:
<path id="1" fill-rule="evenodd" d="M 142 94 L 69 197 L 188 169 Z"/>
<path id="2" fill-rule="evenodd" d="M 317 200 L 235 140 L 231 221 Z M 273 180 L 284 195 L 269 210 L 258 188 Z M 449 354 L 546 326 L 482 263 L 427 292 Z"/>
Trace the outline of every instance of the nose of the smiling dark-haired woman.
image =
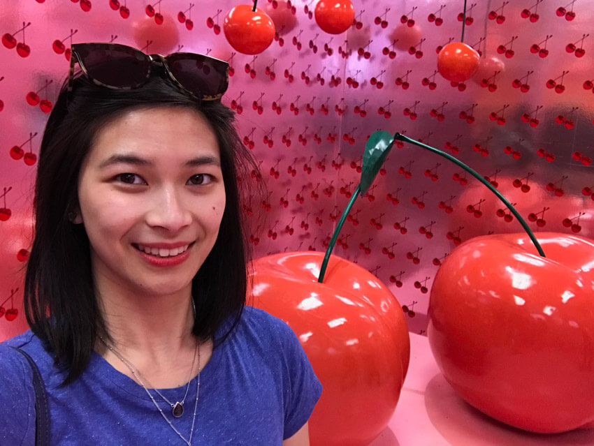
<path id="1" fill-rule="evenodd" d="M 150 226 L 176 232 L 191 223 L 191 212 L 184 203 L 183 194 L 173 188 L 163 188 L 150 200 L 147 223 Z"/>

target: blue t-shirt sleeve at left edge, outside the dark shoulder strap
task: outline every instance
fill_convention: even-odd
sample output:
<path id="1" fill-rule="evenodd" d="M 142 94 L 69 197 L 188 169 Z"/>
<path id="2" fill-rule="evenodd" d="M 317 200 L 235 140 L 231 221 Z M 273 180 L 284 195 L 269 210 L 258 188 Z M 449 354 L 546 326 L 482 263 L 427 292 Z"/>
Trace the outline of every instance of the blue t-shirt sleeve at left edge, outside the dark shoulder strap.
<path id="1" fill-rule="evenodd" d="M 35 393 L 29 364 L 19 352 L 0 345 L 0 445 L 33 445 Z"/>

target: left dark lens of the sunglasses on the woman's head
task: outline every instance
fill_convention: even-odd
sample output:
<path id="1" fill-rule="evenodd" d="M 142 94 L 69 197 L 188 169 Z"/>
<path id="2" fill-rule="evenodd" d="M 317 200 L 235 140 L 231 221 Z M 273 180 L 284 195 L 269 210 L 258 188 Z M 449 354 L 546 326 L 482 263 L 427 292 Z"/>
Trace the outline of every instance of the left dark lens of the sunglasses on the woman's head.
<path id="1" fill-rule="evenodd" d="M 82 66 L 94 80 L 110 87 L 137 87 L 149 73 L 150 60 L 142 52 L 115 44 L 75 47 Z"/>

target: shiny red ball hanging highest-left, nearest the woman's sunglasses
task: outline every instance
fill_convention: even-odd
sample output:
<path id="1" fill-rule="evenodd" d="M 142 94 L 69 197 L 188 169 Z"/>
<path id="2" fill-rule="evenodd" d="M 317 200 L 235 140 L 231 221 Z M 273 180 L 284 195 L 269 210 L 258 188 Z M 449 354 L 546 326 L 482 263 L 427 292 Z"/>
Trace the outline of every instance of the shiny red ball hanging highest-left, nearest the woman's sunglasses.
<path id="1" fill-rule="evenodd" d="M 223 31 L 229 44 L 243 54 L 259 54 L 275 38 L 273 20 L 260 8 L 239 5 L 225 16 Z"/>

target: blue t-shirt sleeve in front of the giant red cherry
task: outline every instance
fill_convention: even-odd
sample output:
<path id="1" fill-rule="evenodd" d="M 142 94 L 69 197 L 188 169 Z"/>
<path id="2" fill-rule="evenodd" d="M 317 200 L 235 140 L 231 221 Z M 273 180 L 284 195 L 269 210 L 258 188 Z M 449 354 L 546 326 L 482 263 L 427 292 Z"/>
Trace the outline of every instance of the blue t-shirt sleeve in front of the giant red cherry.
<path id="1" fill-rule="evenodd" d="M 284 322 L 278 326 L 286 368 L 284 377 L 284 435 L 286 440 L 303 427 L 321 396 L 321 383 L 295 332 Z"/>

